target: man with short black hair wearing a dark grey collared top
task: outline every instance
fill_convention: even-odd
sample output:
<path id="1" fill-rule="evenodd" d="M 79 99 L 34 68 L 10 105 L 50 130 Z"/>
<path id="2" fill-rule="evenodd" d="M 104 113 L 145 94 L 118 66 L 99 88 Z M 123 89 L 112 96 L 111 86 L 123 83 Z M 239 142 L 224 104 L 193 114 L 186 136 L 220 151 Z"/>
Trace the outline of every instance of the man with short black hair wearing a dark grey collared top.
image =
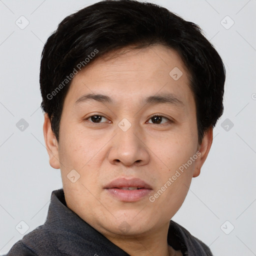
<path id="1" fill-rule="evenodd" d="M 170 219 L 209 152 L 224 81 L 200 28 L 163 7 L 105 0 L 67 16 L 40 69 L 63 189 L 7 255 L 212 255 Z"/>

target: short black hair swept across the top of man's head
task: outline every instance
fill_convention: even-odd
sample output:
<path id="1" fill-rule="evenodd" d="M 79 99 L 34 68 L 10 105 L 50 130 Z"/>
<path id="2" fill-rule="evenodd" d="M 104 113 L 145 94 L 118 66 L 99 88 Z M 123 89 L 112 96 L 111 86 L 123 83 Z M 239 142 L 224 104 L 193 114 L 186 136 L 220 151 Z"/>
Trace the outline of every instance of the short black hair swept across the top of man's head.
<path id="1" fill-rule="evenodd" d="M 41 108 L 59 140 L 59 123 L 72 73 L 105 53 L 135 45 L 170 47 L 190 77 L 198 143 L 223 113 L 225 67 L 201 28 L 168 9 L 137 0 L 103 0 L 67 17 L 47 39 L 41 55 Z"/>

